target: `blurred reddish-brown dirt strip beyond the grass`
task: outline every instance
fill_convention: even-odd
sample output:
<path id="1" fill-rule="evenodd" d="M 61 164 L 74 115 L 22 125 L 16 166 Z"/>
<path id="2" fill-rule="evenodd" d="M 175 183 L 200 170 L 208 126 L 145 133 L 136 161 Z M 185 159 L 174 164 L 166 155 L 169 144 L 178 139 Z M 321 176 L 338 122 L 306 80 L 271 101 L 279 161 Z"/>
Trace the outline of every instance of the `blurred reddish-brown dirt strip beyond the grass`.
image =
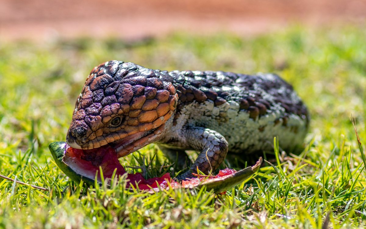
<path id="1" fill-rule="evenodd" d="M 365 25 L 366 0 L 0 0 L 0 40 L 253 35 L 299 23 Z"/>

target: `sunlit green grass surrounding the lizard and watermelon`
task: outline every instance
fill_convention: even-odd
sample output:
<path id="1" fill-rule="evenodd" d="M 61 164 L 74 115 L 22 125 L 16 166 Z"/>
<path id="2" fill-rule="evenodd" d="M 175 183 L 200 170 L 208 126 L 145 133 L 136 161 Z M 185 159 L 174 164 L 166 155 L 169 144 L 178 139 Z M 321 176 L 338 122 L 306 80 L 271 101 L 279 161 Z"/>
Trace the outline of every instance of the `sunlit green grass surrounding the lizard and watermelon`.
<path id="1" fill-rule="evenodd" d="M 81 38 L 0 44 L 0 228 L 349 228 L 365 226 L 366 31 L 306 29 L 242 38 L 230 34 L 126 42 Z M 108 60 L 164 70 L 276 72 L 311 113 L 305 150 L 276 149 L 280 164 L 227 192 L 131 192 L 73 183 L 48 144 L 64 140 L 90 70 Z M 141 154 L 139 154 L 141 153 Z M 153 145 L 123 158 L 147 177 L 171 170 Z M 157 153 L 157 156 L 153 156 Z M 245 152 L 243 152 L 245 153 Z M 149 164 L 150 159 L 152 163 Z"/>

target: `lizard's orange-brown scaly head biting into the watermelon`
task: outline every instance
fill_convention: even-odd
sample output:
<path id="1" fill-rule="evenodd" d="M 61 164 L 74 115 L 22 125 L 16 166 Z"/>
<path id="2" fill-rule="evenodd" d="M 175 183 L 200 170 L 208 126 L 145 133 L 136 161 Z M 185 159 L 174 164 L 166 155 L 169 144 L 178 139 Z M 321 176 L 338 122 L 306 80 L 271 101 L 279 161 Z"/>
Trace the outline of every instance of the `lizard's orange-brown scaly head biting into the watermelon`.
<path id="1" fill-rule="evenodd" d="M 109 144 L 123 157 L 164 133 L 177 100 L 169 75 L 132 63 L 108 61 L 87 77 L 66 142 L 76 149 Z"/>

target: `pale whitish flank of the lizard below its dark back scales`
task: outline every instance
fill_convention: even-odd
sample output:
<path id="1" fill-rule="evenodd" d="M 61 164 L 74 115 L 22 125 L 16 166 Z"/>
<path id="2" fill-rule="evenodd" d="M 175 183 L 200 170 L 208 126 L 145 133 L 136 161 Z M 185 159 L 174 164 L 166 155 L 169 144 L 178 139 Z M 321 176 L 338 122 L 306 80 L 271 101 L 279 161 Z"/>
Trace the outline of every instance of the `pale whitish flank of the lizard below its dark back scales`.
<path id="1" fill-rule="evenodd" d="M 239 110 L 235 101 L 226 102 L 214 107 L 212 100 L 207 100 L 202 104 L 192 103 L 181 110 L 176 126 L 168 138 L 178 138 L 182 135 L 184 126 L 205 127 L 219 132 L 228 142 L 231 153 L 251 153 L 259 150 L 269 150 L 273 147 L 273 138 L 276 136 L 281 143 L 281 147 L 289 149 L 300 146 L 306 135 L 306 121 L 297 115 L 290 115 L 287 125 L 276 124 L 276 120 L 281 121 L 283 112 L 271 111 L 263 115 L 260 119 L 250 119 L 249 113 Z M 227 114 L 227 121 L 219 121 L 219 113 Z M 301 128 L 298 128 L 301 127 Z M 293 128 L 298 128 L 294 133 Z M 182 142 L 178 144 L 181 145 Z"/>

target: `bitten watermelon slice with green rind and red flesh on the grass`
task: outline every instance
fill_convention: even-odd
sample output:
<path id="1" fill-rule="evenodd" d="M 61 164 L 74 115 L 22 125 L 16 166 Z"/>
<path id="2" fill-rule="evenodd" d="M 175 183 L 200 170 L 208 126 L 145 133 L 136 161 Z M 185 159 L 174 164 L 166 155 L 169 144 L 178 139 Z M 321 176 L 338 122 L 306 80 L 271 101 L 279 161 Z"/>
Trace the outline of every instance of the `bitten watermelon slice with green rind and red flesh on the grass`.
<path id="1" fill-rule="evenodd" d="M 98 183 L 101 183 L 100 168 L 104 179 L 111 178 L 115 170 L 117 177 L 127 173 L 118 160 L 116 150 L 110 146 L 81 150 L 68 146 L 66 142 L 52 142 L 48 147 L 57 166 L 77 183 L 83 180 L 87 185 L 94 185 L 96 178 Z M 182 183 L 173 180 L 169 173 L 150 179 L 145 179 L 141 173 L 127 173 L 127 186 L 146 191 L 205 186 L 207 190 L 213 189 L 215 193 L 223 193 L 249 179 L 259 169 L 261 163 L 262 158 L 259 158 L 257 164 L 238 172 L 233 169 L 224 169 L 220 170 L 216 176 L 197 175 L 197 178 L 182 181 Z"/>

